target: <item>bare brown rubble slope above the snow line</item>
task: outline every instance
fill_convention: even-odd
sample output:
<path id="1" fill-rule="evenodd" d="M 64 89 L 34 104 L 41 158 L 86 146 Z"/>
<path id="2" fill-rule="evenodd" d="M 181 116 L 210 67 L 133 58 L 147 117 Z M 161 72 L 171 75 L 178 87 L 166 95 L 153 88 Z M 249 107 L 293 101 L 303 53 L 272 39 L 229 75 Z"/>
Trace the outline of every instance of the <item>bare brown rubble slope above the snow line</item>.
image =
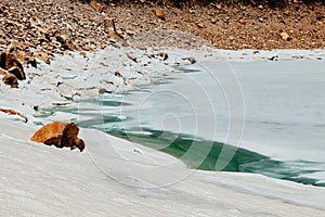
<path id="1" fill-rule="evenodd" d="M 284 8 L 101 2 L 1 0 L 0 50 L 15 42 L 24 56 L 49 62 L 53 53 L 95 51 L 117 41 L 139 48 L 156 42 L 159 47 L 204 43 L 231 50 L 325 48 L 325 5 L 317 1 L 290 1 Z"/>

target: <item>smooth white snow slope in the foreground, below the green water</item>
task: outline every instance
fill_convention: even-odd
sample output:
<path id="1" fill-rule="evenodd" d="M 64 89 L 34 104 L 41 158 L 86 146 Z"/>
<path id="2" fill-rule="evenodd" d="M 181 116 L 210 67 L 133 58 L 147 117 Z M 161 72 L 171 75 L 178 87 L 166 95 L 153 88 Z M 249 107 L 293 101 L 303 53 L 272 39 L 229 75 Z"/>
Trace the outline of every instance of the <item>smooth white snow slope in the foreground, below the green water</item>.
<path id="1" fill-rule="evenodd" d="M 34 127 L 3 118 L 0 122 L 1 216 L 321 217 L 325 214 L 322 188 L 259 175 L 213 171 L 191 171 L 177 180 L 178 174 L 190 170 L 178 159 L 96 130 L 81 130 L 88 149 L 80 154 L 32 143 L 28 139 Z M 115 150 L 105 162 L 112 176 L 99 167 L 101 159 L 91 156 L 91 150 L 101 145 Z M 171 162 L 172 170 L 161 170 Z M 131 174 L 144 173 L 147 167 L 146 176 L 152 183 L 130 176 L 130 167 L 125 167 L 128 165 L 132 166 Z M 161 176 L 176 177 L 176 182 L 155 186 Z"/>

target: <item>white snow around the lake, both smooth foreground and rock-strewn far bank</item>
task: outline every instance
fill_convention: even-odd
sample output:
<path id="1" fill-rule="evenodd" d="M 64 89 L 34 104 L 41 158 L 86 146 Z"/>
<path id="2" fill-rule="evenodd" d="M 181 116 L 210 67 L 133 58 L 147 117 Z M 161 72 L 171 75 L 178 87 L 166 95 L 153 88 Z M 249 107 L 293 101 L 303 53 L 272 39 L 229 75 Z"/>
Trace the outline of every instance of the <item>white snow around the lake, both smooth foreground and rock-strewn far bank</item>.
<path id="1" fill-rule="evenodd" d="M 252 51 L 247 52 L 250 60 L 260 61 L 296 56 L 295 51 L 272 51 L 253 59 Z M 81 129 L 87 145 L 82 153 L 29 141 L 38 124 L 48 122 L 34 116 L 42 107 L 98 97 L 99 90 L 109 94 L 151 84 L 155 76 L 172 73 L 177 63 L 191 64 L 185 59 L 194 55 L 202 63 L 220 56 L 245 60 L 245 51 L 170 50 L 166 61 L 158 53 L 112 48 L 89 54 L 89 61 L 57 56 L 50 66 L 28 68 L 28 77 L 34 78 L 20 84 L 20 89 L 1 85 L 1 106 L 17 110 L 29 123 L 0 117 L 0 216 L 325 215 L 323 188 L 260 175 L 194 171 L 170 155 L 93 129 Z M 314 51 L 304 56 L 324 59 L 325 54 Z M 101 158 L 94 158 L 94 152 Z"/>

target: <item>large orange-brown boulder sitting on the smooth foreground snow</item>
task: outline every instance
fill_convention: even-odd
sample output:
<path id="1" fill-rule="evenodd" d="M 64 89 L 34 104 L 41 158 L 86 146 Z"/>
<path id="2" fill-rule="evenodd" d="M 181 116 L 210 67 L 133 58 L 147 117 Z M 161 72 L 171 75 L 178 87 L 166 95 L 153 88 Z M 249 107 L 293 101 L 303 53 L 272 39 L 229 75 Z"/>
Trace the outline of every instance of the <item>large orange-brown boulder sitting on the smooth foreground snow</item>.
<path id="1" fill-rule="evenodd" d="M 82 152 L 84 142 L 77 137 L 78 132 L 79 128 L 74 123 L 54 122 L 36 131 L 30 140 L 47 145 L 54 144 L 60 149 L 64 146 L 69 146 L 70 150 L 78 148 Z"/>

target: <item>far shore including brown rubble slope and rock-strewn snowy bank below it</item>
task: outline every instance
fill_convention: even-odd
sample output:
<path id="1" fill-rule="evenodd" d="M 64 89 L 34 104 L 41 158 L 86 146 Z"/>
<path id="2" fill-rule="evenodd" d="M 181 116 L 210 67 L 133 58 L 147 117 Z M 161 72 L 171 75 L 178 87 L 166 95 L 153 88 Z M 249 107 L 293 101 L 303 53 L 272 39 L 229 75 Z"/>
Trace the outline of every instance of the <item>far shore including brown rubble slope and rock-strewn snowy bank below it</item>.
<path id="1" fill-rule="evenodd" d="M 324 11 L 321 2 L 300 1 L 271 8 L 243 3 L 177 7 L 159 1 L 1 0 L 0 73 L 12 88 L 20 85 L 34 88 L 34 92 L 52 92 L 41 103 L 49 105 L 128 90 L 150 84 L 152 75 L 172 72 L 174 64 L 195 63 L 191 52 L 168 58 L 169 53 L 164 52 L 168 48 L 206 49 L 216 60 L 223 54 L 225 60 L 242 60 L 244 54 L 246 60 L 300 59 L 294 53 L 263 54 L 263 50 L 324 49 Z M 251 50 L 226 54 L 216 48 Z M 108 52 L 102 52 L 104 49 Z M 60 58 L 62 54 L 66 55 Z M 314 54 L 309 58 L 324 59 L 317 50 Z M 200 54 L 196 51 L 195 55 Z M 54 58 L 54 65 L 42 65 Z"/>

